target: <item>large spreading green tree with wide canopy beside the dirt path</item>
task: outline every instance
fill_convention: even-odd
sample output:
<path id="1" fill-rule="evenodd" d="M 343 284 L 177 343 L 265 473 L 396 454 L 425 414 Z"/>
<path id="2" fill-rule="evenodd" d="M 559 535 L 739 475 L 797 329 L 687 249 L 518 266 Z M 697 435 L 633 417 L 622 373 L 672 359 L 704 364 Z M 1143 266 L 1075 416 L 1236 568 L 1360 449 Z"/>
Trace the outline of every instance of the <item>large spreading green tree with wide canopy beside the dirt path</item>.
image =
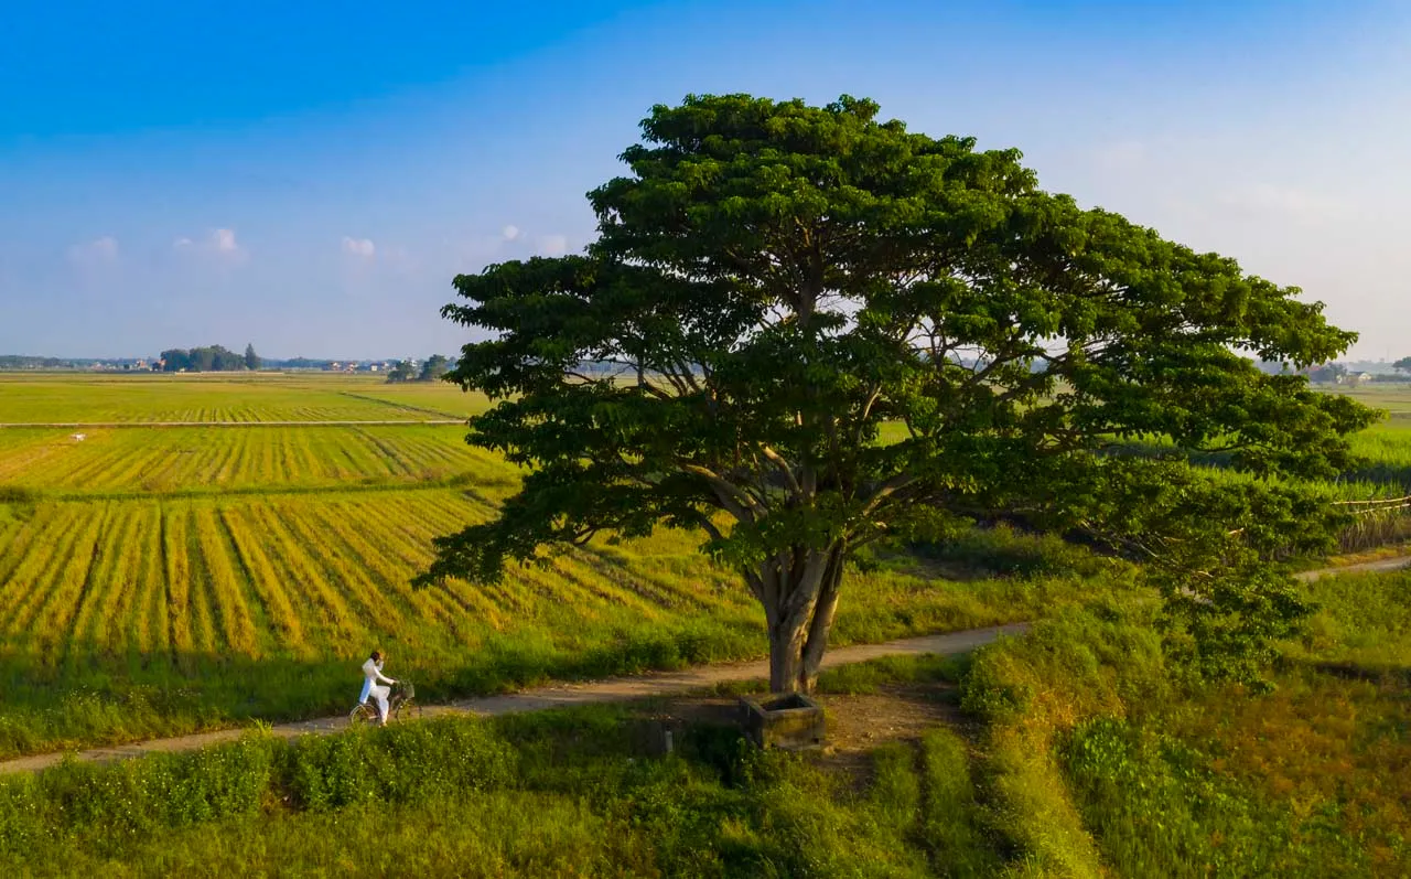
<path id="1" fill-rule="evenodd" d="M 452 378 L 499 401 L 468 439 L 529 471 L 419 583 L 700 529 L 763 605 L 776 691 L 813 686 L 859 547 L 979 516 L 1157 563 L 1197 652 L 1297 617 L 1259 560 L 1315 543 L 1321 508 L 1150 440 L 1335 473 L 1367 411 L 1247 356 L 1302 367 L 1355 336 L 1294 288 L 1040 190 L 1017 151 L 876 113 L 658 106 L 628 174 L 588 195 L 586 255 L 456 278 L 443 315 L 492 337 Z"/>

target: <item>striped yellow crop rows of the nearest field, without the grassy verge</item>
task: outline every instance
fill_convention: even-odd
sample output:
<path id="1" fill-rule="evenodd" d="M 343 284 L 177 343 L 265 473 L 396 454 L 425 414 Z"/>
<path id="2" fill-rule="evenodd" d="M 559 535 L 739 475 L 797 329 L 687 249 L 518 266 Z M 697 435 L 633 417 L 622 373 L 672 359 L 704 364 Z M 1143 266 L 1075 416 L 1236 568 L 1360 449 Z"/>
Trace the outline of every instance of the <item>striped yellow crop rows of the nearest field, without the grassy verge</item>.
<path id="1" fill-rule="evenodd" d="M 388 642 L 426 657 L 507 626 L 576 641 L 683 614 L 748 617 L 738 591 L 718 588 L 696 557 L 694 578 L 653 570 L 649 556 L 577 553 L 488 588 L 412 590 L 432 536 L 487 512 L 449 491 L 42 504 L 0 532 L 0 641 L 41 666 L 124 655 L 356 659 Z"/>

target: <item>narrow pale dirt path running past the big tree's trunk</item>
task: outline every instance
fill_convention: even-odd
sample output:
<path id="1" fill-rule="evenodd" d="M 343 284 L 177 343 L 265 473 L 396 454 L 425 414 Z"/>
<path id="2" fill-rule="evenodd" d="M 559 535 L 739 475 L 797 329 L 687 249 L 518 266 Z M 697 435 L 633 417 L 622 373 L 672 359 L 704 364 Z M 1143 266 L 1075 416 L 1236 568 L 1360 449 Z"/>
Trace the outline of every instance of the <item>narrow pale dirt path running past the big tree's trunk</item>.
<path id="1" fill-rule="evenodd" d="M 964 632 L 948 632 L 945 635 L 926 635 L 921 638 L 906 638 L 889 641 L 886 643 L 866 643 L 851 648 L 830 650 L 823 666 L 835 666 L 866 662 L 882 656 L 917 656 L 924 653 L 950 655 L 964 653 L 981 645 L 989 643 L 1000 635 L 1017 635 L 1027 626 L 1024 624 L 1003 625 L 985 629 L 968 629 Z M 563 708 L 569 705 L 588 705 L 601 703 L 621 703 L 652 696 L 673 696 L 703 690 L 714 684 L 742 680 L 761 680 L 769 676 L 766 660 L 722 663 L 687 669 L 684 672 L 669 672 L 656 674 L 641 674 L 635 677 L 611 677 L 607 680 L 588 681 L 581 684 L 556 684 L 536 687 L 523 693 L 507 696 L 487 696 L 483 698 L 468 698 L 447 705 L 428 705 L 423 711 L 428 717 L 460 714 L 460 715 L 498 715 L 515 714 L 519 711 L 543 711 L 545 708 Z M 346 717 L 325 717 L 313 721 L 296 724 L 278 724 L 271 732 L 281 738 L 298 738 L 301 735 L 329 735 L 347 727 Z M 181 735 L 175 738 L 152 739 L 133 745 L 117 745 L 113 748 L 90 748 L 73 753 L 79 760 L 106 762 L 124 758 L 143 756 L 145 753 L 168 751 L 192 751 L 229 742 L 244 735 L 247 728 L 217 729 L 214 732 L 199 732 L 196 735 Z M 59 763 L 65 753 L 37 753 L 0 762 L 0 775 L 37 772 Z"/>

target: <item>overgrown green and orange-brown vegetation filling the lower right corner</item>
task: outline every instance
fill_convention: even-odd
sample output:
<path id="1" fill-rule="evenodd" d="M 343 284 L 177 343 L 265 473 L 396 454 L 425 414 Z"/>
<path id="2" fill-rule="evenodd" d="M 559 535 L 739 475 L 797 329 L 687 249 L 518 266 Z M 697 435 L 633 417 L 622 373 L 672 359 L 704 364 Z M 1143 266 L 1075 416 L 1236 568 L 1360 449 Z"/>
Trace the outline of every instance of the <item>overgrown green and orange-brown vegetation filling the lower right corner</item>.
<path id="1" fill-rule="evenodd" d="M 1170 665 L 1140 601 L 978 652 L 985 784 L 1033 875 L 1411 872 L 1411 574 L 1304 588 L 1268 694 Z"/>

